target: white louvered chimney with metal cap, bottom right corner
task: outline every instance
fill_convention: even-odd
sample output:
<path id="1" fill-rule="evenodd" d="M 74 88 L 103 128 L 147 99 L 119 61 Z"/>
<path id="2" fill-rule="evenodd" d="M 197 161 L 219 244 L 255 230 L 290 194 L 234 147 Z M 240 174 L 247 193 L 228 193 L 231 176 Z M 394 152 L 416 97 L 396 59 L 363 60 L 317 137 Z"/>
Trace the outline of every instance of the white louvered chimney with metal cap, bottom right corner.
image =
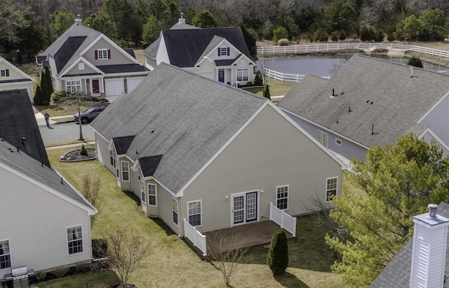
<path id="1" fill-rule="evenodd" d="M 437 215 L 437 208 L 429 204 L 429 213 L 413 216 L 410 288 L 443 287 L 449 219 Z"/>

